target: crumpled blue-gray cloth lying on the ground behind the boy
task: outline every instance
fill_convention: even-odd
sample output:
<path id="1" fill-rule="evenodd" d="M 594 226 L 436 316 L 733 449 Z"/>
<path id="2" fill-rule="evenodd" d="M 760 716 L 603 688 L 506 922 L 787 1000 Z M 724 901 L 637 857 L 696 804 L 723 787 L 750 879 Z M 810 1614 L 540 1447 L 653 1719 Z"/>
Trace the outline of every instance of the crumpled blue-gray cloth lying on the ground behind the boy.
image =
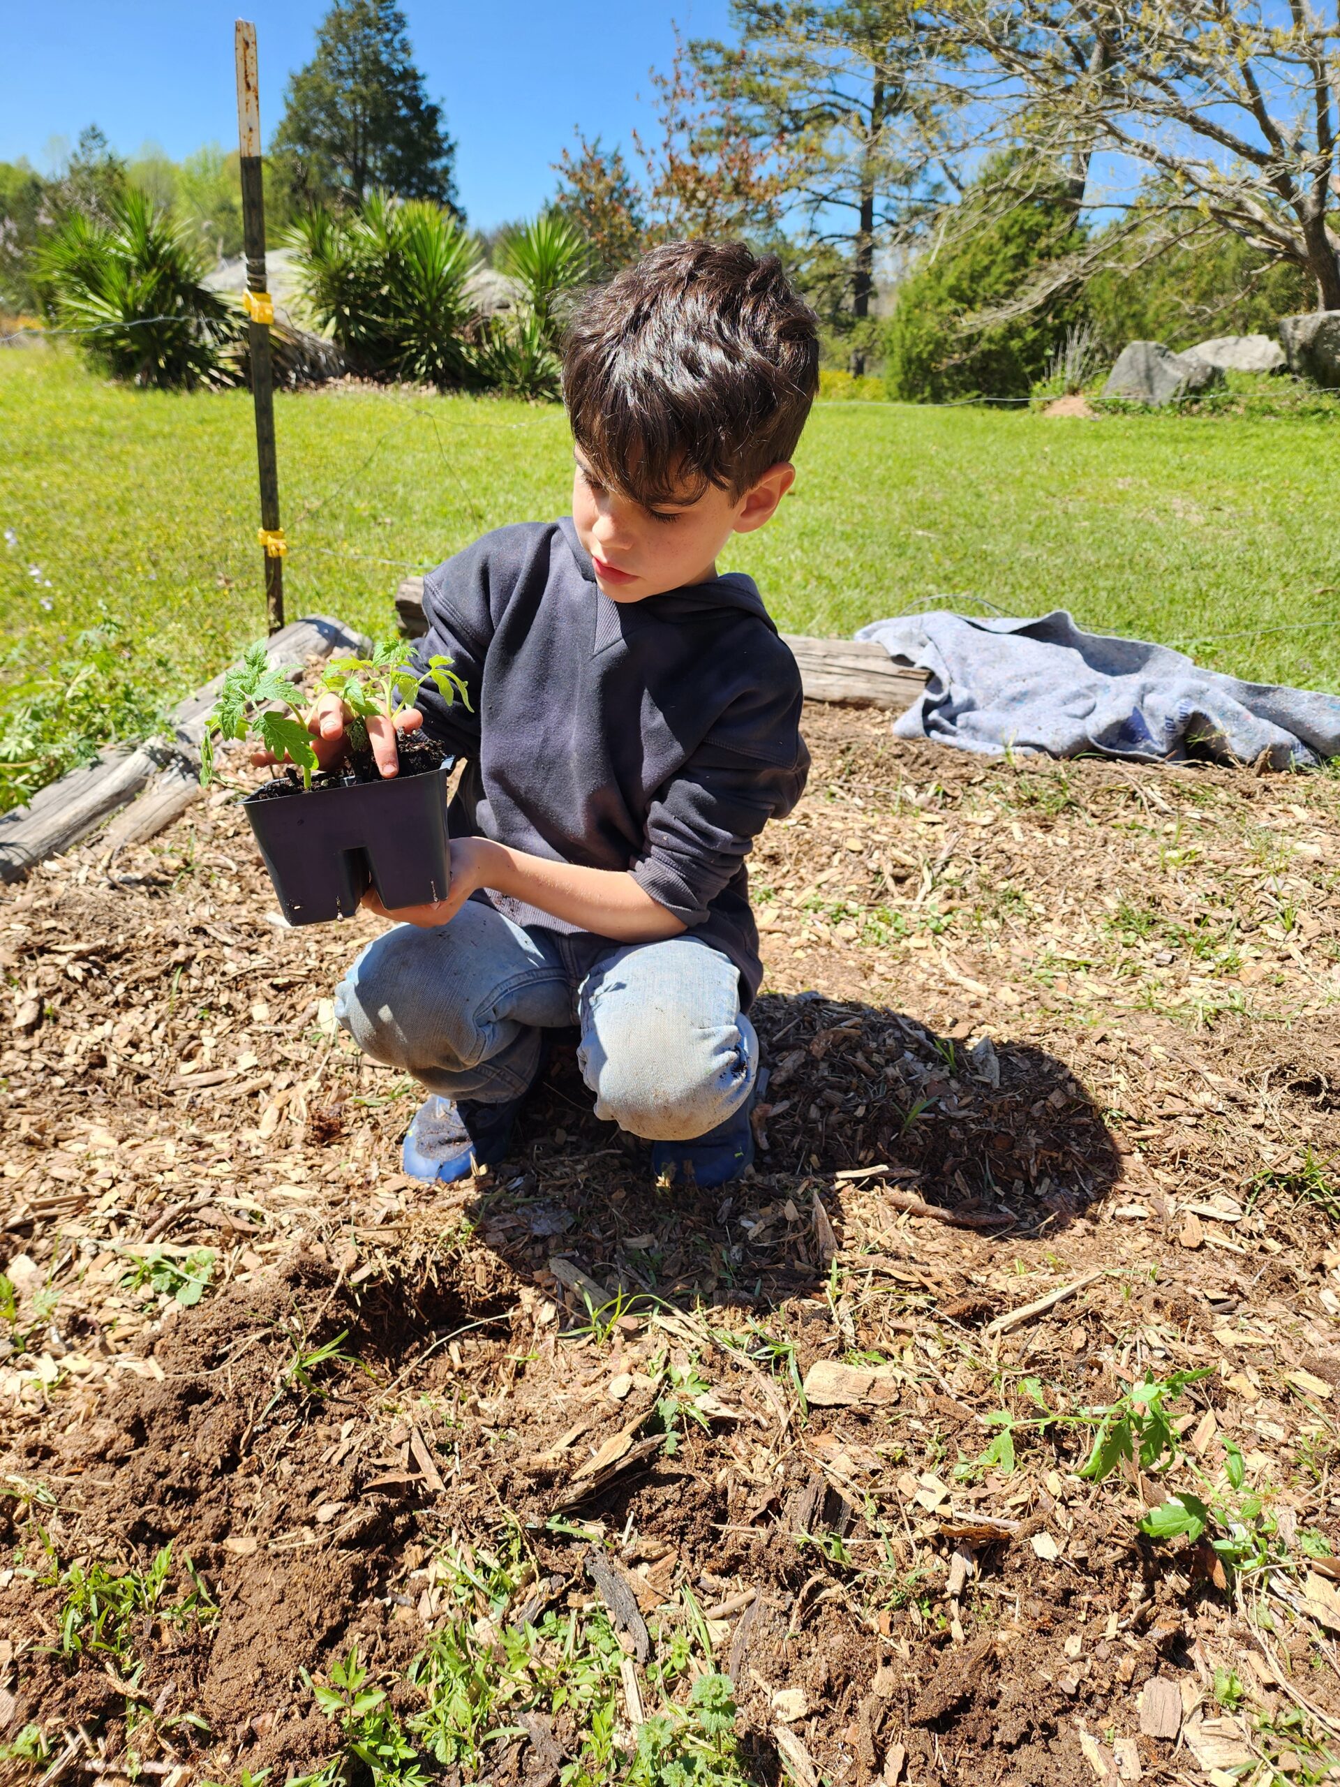
<path id="1" fill-rule="evenodd" d="M 1281 770 L 1340 756 L 1340 697 L 1240 683 L 1168 645 L 1085 633 L 1063 608 L 1036 620 L 902 615 L 856 638 L 931 672 L 893 722 L 899 738 L 1054 758 L 1263 758 Z"/>

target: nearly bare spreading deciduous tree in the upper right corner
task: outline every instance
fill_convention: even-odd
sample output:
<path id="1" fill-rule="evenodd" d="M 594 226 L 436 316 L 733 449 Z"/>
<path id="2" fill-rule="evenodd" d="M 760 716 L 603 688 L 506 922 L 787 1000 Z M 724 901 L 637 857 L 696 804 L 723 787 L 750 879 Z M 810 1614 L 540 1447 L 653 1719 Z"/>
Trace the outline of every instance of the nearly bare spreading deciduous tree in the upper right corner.
<path id="1" fill-rule="evenodd" d="M 1319 309 L 1340 309 L 1340 14 L 1311 0 L 947 0 L 945 25 L 1081 200 L 1093 154 L 1131 157 L 1167 209 L 1304 268 Z"/>

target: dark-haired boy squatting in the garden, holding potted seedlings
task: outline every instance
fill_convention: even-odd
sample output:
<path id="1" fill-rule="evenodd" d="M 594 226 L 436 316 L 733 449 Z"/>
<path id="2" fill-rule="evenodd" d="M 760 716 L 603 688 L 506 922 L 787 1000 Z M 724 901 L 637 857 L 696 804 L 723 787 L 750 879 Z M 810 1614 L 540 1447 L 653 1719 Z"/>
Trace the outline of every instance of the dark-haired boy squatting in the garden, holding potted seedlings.
<path id="1" fill-rule="evenodd" d="M 404 1142 L 415 1178 L 502 1160 L 547 1033 L 574 1022 L 597 1117 L 652 1142 L 654 1176 L 722 1185 L 752 1160 L 745 856 L 809 756 L 795 659 L 716 554 L 791 486 L 815 322 L 774 256 L 656 248 L 565 341 L 572 516 L 500 527 L 423 583 L 422 654 L 450 656 L 473 706 L 422 692 L 423 727 L 466 759 L 452 886 L 395 913 L 370 895 L 400 922 L 336 997 L 359 1047 L 432 1094 Z M 332 758 L 334 697 L 311 724 Z"/>

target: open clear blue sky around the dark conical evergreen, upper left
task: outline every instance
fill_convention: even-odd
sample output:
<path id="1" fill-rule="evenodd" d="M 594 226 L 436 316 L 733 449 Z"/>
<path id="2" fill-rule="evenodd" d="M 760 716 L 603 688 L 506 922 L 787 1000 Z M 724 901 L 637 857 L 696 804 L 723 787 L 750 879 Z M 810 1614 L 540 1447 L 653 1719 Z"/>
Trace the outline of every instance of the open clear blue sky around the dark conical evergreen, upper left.
<path id="1" fill-rule="evenodd" d="M 247 0 L 243 0 L 243 7 Z M 649 122 L 647 70 L 668 64 L 674 23 L 720 36 L 727 0 L 400 0 L 415 59 L 457 143 L 472 223 L 532 213 L 575 125 L 606 143 Z M 252 0 L 261 127 L 279 123 L 284 82 L 313 54 L 325 0 Z M 59 139 L 98 123 L 114 148 L 154 141 L 172 157 L 234 148 L 236 0 L 48 0 L 13 7 L 0 64 L 0 161 L 46 168 Z M 638 98 L 641 95 L 641 100 Z M 54 141 L 55 139 L 55 141 Z"/>

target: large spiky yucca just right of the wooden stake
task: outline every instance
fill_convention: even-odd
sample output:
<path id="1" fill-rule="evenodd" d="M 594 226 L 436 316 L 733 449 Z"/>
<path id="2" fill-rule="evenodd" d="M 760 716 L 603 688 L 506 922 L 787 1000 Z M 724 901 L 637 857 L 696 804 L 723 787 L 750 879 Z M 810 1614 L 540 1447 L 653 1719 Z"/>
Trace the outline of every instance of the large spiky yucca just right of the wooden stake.
<path id="1" fill-rule="evenodd" d="M 307 304 L 359 372 L 438 390 L 475 382 L 466 281 L 479 248 L 454 213 L 379 191 L 352 213 L 314 207 L 289 245 Z"/>

